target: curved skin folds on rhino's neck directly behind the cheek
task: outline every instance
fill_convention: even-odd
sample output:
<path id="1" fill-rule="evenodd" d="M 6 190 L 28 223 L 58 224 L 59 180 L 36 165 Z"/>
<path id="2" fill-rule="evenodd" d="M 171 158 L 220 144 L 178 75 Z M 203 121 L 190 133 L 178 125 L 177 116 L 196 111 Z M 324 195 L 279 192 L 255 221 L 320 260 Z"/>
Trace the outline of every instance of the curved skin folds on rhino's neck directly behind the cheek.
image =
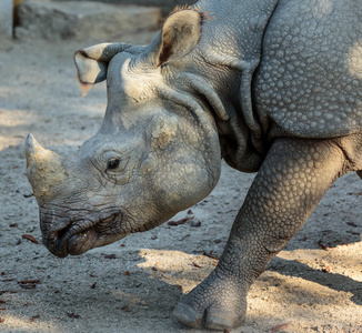
<path id="1" fill-rule="evenodd" d="M 212 83 L 212 79 L 185 72 L 178 75 L 174 83 L 171 84 L 177 85 L 177 89 L 162 89 L 159 94 L 184 105 L 198 119 L 203 119 L 209 114 L 217 125 L 221 157 L 232 168 L 244 172 L 257 171 L 262 162 L 262 154 L 252 145 L 250 129 L 239 115 L 239 103 L 234 103 L 223 91 L 217 91 Z M 180 89 L 183 91 L 182 93 Z"/>

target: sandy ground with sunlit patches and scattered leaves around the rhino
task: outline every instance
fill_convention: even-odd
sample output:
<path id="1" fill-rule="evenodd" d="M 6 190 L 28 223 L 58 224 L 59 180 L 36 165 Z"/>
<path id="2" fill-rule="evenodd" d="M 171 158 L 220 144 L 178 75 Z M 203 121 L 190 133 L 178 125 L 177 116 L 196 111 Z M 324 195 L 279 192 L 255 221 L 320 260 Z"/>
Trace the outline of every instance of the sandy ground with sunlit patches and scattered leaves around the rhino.
<path id="1" fill-rule="evenodd" d="M 144 43 L 152 34 L 123 41 Z M 97 131 L 105 85 L 82 99 L 72 65 L 73 51 L 93 42 L 0 43 L 0 331 L 202 332 L 171 312 L 217 264 L 203 253 L 221 255 L 252 174 L 224 165 L 218 188 L 182 225 L 62 260 L 40 244 L 24 139 L 32 132 L 44 147 L 71 154 Z M 232 332 L 362 332 L 361 192 L 355 174 L 330 189 L 254 283 L 247 321 Z"/>

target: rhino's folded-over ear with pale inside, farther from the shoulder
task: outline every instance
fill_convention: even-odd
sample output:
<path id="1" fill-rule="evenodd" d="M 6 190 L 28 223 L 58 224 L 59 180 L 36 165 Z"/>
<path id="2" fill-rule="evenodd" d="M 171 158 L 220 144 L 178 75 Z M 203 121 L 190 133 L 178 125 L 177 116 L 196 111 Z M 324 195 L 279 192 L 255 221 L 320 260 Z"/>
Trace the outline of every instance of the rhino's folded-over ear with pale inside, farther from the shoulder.
<path id="1" fill-rule="evenodd" d="M 104 81 L 110 60 L 131 47 L 124 43 L 102 43 L 78 50 L 73 59 L 81 87 L 89 90 L 94 83 Z"/>

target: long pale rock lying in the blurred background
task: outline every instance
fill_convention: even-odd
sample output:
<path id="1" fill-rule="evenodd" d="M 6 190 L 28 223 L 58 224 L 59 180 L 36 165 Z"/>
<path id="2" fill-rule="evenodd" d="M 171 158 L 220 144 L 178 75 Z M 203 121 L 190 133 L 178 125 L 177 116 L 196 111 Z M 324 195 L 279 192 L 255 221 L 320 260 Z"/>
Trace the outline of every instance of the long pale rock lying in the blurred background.
<path id="1" fill-rule="evenodd" d="M 19 39 L 110 40 L 129 32 L 160 28 L 161 9 L 92 1 L 24 1 L 19 7 Z"/>

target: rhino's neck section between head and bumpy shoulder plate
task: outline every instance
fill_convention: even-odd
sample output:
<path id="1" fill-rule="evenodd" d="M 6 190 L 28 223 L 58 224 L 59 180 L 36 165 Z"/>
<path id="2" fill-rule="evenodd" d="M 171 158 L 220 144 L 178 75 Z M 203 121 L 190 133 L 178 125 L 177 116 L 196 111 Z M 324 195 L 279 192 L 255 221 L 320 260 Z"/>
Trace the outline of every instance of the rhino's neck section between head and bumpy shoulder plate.
<path id="1" fill-rule="evenodd" d="M 240 0 L 198 2 L 197 7 L 213 20 L 208 22 L 197 58 L 207 81 L 223 97 L 230 118 L 228 124 L 222 124 L 227 133 L 222 140 L 225 160 L 238 170 L 253 172 L 259 170 L 269 144 L 253 104 L 252 80 L 261 60 L 263 36 L 279 0 L 242 2 L 241 13 Z M 240 128 L 245 134 L 240 133 Z"/>

